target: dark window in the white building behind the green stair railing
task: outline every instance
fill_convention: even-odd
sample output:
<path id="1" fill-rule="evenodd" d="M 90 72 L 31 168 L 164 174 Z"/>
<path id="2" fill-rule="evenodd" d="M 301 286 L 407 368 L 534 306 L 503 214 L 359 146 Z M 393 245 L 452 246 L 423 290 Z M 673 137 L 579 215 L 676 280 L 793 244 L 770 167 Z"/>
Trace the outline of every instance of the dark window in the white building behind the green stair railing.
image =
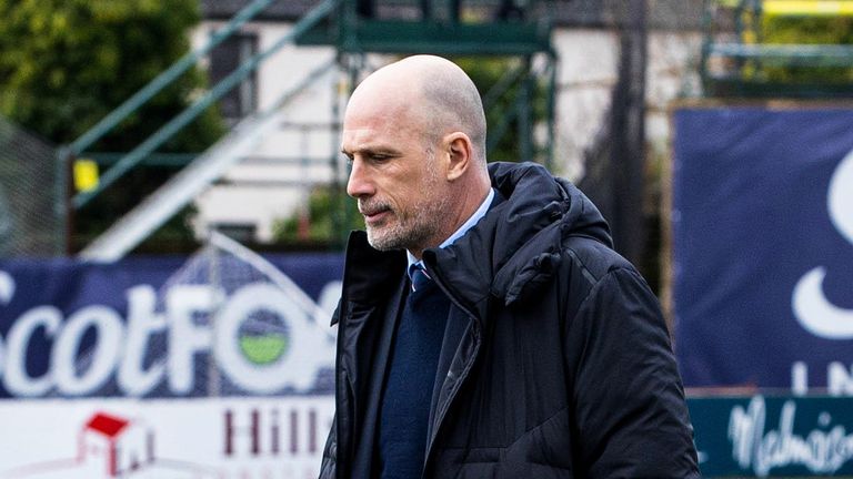
<path id="1" fill-rule="evenodd" d="M 218 44 L 210 53 L 211 86 L 240 68 L 258 51 L 258 35 L 235 33 Z M 225 120 L 234 124 L 258 109 L 258 71 L 253 71 L 240 84 L 219 101 Z"/>

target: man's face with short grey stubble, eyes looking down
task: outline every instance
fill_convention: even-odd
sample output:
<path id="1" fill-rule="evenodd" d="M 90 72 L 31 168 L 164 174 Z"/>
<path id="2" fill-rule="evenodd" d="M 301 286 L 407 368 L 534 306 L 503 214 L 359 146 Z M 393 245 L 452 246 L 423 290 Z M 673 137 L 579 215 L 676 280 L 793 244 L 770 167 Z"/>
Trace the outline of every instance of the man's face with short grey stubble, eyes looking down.
<path id="1" fill-rule="evenodd" d="M 347 193 L 358 198 L 371 246 L 420 256 L 446 236 L 450 195 L 435 161 L 440 144 L 408 109 L 348 109 L 341 150 L 352 163 Z"/>

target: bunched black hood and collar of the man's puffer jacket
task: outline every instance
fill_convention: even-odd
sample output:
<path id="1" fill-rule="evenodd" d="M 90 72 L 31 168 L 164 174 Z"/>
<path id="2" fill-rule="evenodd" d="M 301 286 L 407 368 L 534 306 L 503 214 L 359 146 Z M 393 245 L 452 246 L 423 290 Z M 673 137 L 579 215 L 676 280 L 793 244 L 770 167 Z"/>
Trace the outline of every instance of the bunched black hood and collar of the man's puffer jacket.
<path id="1" fill-rule="evenodd" d="M 568 180 L 535 163 L 491 163 L 489 175 L 498 191 L 489 213 L 453 245 L 423 254 L 472 310 L 489 295 L 508 306 L 530 297 L 551 279 L 569 236 L 612 247 L 604 217 Z"/>

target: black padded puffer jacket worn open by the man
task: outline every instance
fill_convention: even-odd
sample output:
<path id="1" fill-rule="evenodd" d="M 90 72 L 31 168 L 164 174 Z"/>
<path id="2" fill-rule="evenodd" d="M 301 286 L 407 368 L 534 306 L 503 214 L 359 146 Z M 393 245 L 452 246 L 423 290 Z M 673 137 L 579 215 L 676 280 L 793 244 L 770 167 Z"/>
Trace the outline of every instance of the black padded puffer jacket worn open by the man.
<path id="1" fill-rule="evenodd" d="M 645 282 L 611 249 L 601 214 L 541 166 L 489 172 L 504 201 L 452 246 L 423 255 L 453 305 L 423 476 L 699 477 L 666 326 Z M 404 268 L 403 252 L 351 237 L 321 478 L 374 477 Z"/>

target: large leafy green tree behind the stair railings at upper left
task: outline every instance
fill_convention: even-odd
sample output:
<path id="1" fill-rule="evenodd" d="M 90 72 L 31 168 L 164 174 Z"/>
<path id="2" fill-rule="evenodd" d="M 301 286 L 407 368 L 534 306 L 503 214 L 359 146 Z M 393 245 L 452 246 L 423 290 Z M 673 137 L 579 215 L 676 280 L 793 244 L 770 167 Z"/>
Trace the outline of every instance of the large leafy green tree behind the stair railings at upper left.
<path id="1" fill-rule="evenodd" d="M 0 114 L 56 144 L 73 141 L 188 51 L 198 8 L 197 0 L 0 0 Z M 200 70 L 188 72 L 92 150 L 131 150 L 204 86 Z M 203 151 L 223 131 L 210 109 L 162 151 Z M 172 172 L 127 175 L 78 213 L 76 231 L 104 230 Z M 159 235 L 187 238 L 184 223 Z"/>

